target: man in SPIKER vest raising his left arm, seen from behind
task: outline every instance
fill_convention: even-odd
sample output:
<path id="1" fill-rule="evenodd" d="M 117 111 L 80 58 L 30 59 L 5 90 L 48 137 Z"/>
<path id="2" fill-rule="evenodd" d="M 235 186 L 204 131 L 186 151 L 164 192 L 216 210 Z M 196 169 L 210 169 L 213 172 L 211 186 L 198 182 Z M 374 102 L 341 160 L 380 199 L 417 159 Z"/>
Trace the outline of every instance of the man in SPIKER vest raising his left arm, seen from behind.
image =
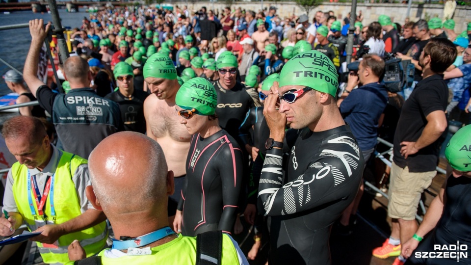
<path id="1" fill-rule="evenodd" d="M 58 136 L 57 147 L 88 158 L 93 148 L 106 136 L 124 130 L 119 106 L 99 97 L 90 88 L 92 76 L 88 63 L 78 56 L 70 57 L 64 63 L 64 76 L 71 88 L 67 95 L 54 93 L 37 78 L 39 52 L 51 27 L 48 24 L 45 29 L 43 25 L 42 19 L 29 21 L 32 39 L 23 77 L 38 99 L 39 106 L 52 116 Z"/>

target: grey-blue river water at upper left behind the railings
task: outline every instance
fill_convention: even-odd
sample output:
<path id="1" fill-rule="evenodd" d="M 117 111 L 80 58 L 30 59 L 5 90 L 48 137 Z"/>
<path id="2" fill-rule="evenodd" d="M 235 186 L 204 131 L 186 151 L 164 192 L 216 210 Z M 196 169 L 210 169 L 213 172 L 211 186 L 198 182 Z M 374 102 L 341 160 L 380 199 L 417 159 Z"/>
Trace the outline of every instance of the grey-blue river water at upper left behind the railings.
<path id="1" fill-rule="evenodd" d="M 83 11 L 67 13 L 65 9 L 59 9 L 62 27 L 80 27 L 83 17 L 88 13 Z M 28 23 L 31 19 L 43 19 L 45 23 L 52 21 L 51 14 L 33 13 L 32 11 L 11 12 L 9 15 L 0 14 L 0 25 L 12 25 Z M 0 57 L 16 69 L 23 72 L 26 54 L 31 43 L 29 28 L 9 29 L 0 31 Z M 0 62 L 0 74 L 3 75 L 10 68 Z M 0 80 L 0 96 L 10 93 L 3 79 Z"/>

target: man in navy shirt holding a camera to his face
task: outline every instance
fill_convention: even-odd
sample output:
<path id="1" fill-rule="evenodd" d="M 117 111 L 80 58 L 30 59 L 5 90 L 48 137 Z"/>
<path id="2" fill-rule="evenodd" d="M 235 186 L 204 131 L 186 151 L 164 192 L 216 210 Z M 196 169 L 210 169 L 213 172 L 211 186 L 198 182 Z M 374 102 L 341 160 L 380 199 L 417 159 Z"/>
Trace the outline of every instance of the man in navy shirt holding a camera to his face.
<path id="1" fill-rule="evenodd" d="M 340 113 L 357 139 L 365 165 L 374 152 L 378 123 L 388 104 L 388 91 L 380 83 L 384 75 L 385 62 L 377 54 L 366 54 L 358 65 L 357 72 L 350 72 L 347 86 L 343 90 L 337 105 Z M 357 89 L 354 89 L 356 86 Z M 365 104 L 367 102 L 368 104 Z M 340 219 L 339 232 L 342 235 L 352 233 L 350 214 L 355 215 L 363 194 L 363 182 L 355 200 L 345 209 Z M 352 217 L 354 220 L 355 217 Z"/>

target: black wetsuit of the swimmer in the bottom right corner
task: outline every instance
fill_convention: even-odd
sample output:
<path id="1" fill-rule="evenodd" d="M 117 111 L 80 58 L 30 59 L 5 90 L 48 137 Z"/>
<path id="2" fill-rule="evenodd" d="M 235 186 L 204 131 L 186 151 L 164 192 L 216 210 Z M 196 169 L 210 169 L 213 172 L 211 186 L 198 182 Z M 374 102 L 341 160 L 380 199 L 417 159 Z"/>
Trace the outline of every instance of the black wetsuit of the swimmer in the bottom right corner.
<path id="1" fill-rule="evenodd" d="M 437 226 L 419 244 L 406 264 L 471 264 L 471 178 L 448 177 L 445 195 L 445 206 Z M 450 245 L 456 246 L 457 241 L 461 245 L 458 251 L 443 250 L 444 245 L 451 248 Z M 435 250 L 435 245 L 439 245 L 440 250 Z M 467 248 L 467 250 L 464 250 L 464 248 Z M 424 252 L 426 252 L 428 258 L 424 258 Z M 460 256 L 460 262 L 457 263 L 456 256 L 453 258 L 430 258 L 432 255 L 435 257 L 438 255 L 437 253 L 431 254 L 432 252 L 448 252 L 448 255 L 453 252 L 453 255 L 458 254 Z M 441 255 L 444 256 L 445 253 Z M 468 257 L 466 258 L 464 255 Z"/>

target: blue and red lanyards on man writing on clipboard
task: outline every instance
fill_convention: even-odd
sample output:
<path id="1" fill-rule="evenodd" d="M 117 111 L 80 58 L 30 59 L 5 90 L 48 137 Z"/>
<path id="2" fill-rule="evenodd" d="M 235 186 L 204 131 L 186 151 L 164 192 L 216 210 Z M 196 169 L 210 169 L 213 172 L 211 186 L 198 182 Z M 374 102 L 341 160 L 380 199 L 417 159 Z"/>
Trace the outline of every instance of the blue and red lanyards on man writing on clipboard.
<path id="1" fill-rule="evenodd" d="M 51 203 L 51 215 L 52 218 L 55 219 L 55 209 L 54 209 L 54 174 L 52 174 L 52 177 L 48 177 L 46 181 L 46 186 L 44 187 L 44 192 L 41 195 L 39 192 L 38 184 L 36 182 L 36 178 L 32 177 L 30 175 L 30 172 L 28 170 L 28 182 L 27 182 L 27 188 L 28 188 L 28 203 L 29 203 L 29 209 L 31 210 L 31 214 L 36 217 L 39 215 L 42 217 L 43 220 L 47 220 L 48 216 L 44 214 L 44 207 L 46 206 L 46 200 L 48 199 L 49 195 L 49 202 Z M 32 181 L 31 181 L 32 180 Z M 36 210 L 34 209 L 33 205 L 33 199 L 31 196 L 31 182 L 33 183 L 34 186 L 34 200 L 36 202 L 36 206 L 38 207 L 38 214 L 36 214 Z"/>

